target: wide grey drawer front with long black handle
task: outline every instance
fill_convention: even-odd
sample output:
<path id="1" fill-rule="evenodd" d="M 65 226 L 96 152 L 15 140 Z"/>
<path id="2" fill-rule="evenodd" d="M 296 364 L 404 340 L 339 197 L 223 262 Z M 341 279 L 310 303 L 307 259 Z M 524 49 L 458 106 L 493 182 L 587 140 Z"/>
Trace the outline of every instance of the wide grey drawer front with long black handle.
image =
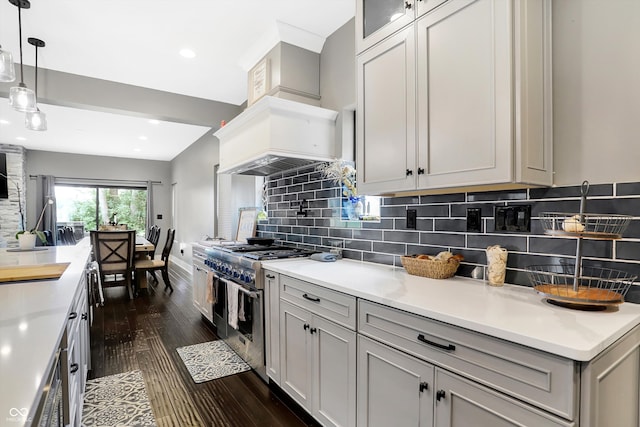
<path id="1" fill-rule="evenodd" d="M 364 300 L 358 313 L 362 334 L 566 419 L 576 416 L 572 360 Z"/>

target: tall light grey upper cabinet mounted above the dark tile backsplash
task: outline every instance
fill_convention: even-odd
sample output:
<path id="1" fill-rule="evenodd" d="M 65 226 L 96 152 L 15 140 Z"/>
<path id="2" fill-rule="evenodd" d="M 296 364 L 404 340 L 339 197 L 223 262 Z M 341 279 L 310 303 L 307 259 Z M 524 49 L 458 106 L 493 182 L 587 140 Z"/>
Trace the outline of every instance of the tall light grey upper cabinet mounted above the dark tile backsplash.
<path id="1" fill-rule="evenodd" d="M 550 0 L 392 3 L 357 3 L 359 192 L 551 185 Z"/>

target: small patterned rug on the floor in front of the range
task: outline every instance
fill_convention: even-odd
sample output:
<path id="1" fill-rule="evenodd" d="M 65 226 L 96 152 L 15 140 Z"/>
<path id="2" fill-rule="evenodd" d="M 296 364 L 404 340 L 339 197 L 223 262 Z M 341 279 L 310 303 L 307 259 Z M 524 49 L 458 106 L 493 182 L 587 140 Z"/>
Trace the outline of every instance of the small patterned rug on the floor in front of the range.
<path id="1" fill-rule="evenodd" d="M 176 351 L 196 383 L 215 380 L 251 369 L 222 340 L 180 347 Z"/>

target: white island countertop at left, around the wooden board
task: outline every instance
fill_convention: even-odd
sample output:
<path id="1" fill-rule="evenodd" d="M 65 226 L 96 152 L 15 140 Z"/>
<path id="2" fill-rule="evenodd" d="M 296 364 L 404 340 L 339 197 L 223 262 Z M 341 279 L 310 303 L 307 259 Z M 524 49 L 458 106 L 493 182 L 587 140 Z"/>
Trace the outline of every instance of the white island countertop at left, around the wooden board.
<path id="1" fill-rule="evenodd" d="M 25 417 L 11 414 L 35 410 L 89 250 L 88 242 L 45 251 L 0 249 L 1 266 L 71 263 L 58 280 L 0 283 L 0 425 L 23 425 Z"/>

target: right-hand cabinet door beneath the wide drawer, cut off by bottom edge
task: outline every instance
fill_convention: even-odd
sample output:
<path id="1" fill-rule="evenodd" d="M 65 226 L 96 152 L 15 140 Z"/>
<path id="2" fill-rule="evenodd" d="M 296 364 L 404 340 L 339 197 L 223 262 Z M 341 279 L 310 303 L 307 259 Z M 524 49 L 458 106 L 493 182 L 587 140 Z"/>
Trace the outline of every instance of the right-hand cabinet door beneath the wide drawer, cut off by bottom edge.
<path id="1" fill-rule="evenodd" d="M 435 427 L 574 425 L 455 374 L 435 375 Z"/>

